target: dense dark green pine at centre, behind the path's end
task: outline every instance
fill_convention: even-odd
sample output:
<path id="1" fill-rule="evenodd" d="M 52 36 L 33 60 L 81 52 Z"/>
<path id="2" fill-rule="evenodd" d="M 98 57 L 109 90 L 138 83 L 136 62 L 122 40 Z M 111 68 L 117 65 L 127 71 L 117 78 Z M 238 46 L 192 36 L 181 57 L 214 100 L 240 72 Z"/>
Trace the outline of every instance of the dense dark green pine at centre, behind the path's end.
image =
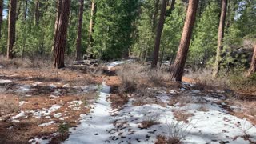
<path id="1" fill-rule="evenodd" d="M 97 58 L 123 58 L 129 53 L 138 15 L 138 0 L 102 0 L 97 2 L 94 25 L 94 47 L 90 51 Z"/>

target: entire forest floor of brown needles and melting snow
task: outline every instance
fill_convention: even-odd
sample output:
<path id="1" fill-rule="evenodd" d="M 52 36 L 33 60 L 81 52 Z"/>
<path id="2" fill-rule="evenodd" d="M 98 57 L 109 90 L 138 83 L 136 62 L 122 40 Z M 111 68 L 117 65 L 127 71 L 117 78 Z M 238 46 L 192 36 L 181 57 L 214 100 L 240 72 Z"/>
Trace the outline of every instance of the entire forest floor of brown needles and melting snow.
<path id="1" fill-rule="evenodd" d="M 256 143 L 254 98 L 202 90 L 189 78 L 123 94 L 115 71 L 129 62 L 98 70 L 0 62 L 0 143 Z"/>

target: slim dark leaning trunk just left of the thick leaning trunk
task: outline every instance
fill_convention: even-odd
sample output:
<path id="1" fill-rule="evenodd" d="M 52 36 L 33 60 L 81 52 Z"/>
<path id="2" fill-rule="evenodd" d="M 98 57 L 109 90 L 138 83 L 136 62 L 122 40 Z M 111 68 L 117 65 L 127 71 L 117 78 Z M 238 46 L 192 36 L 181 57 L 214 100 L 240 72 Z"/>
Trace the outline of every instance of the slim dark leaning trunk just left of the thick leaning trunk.
<path id="1" fill-rule="evenodd" d="M 167 0 L 162 0 L 161 14 L 158 22 L 157 35 L 154 42 L 154 54 L 153 54 L 153 61 L 151 63 L 151 68 L 155 68 L 158 65 L 158 55 L 160 50 L 162 29 L 163 29 L 163 25 L 165 22 L 165 15 L 166 15 L 166 2 Z"/>

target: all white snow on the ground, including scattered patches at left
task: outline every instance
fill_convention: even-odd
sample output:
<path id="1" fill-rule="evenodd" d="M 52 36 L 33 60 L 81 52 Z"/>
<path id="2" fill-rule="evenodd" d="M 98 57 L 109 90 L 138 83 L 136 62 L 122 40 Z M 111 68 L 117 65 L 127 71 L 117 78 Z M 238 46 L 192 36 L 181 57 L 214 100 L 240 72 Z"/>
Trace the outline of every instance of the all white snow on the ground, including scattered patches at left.
<path id="1" fill-rule="evenodd" d="M 132 62 L 132 61 L 128 61 Z M 126 63 L 126 61 L 112 62 L 107 67 L 111 70 L 114 66 Z M 0 84 L 11 83 L 12 81 L 2 79 Z M 27 94 L 33 86 L 41 85 L 42 82 L 35 82 L 34 85 L 18 86 L 16 92 L 19 94 Z M 55 84 L 50 84 L 50 89 L 54 89 L 50 98 L 58 98 L 61 96 L 62 89 L 58 89 Z M 226 103 L 218 103 L 225 99 L 221 92 L 205 94 L 201 90 L 187 90 L 190 86 L 188 83 L 183 84 L 181 90 L 158 90 L 154 91 L 155 104 L 146 104 L 142 106 L 134 106 L 134 102 L 138 102 L 139 94 L 129 99 L 129 102 L 122 107 L 121 110 L 112 110 L 109 101 L 110 86 L 106 85 L 106 79 L 102 82 L 101 90 L 98 93 L 98 99 L 90 107 L 89 114 L 80 115 L 80 124 L 75 128 L 70 128 L 69 138 L 63 143 L 68 144 L 99 144 L 99 143 L 155 143 L 157 137 L 162 135 L 168 137 L 179 137 L 184 143 L 206 144 L 206 143 L 234 143 L 246 144 L 256 142 L 256 127 L 246 119 L 237 118 L 230 114 L 225 107 L 230 109 L 241 110 L 242 107 L 228 106 Z M 70 86 L 65 84 L 62 86 L 78 89 L 81 93 L 90 90 L 98 90 L 98 86 Z M 189 99 L 188 102 L 174 102 L 170 104 L 177 96 L 180 95 Z M 147 102 L 152 99 L 140 98 Z M 187 101 L 187 100 L 183 100 Z M 149 102 L 150 103 L 150 102 Z M 159 104 L 158 104 L 159 103 Z M 161 105 L 160 105 L 161 103 Z M 19 106 L 26 105 L 25 101 L 18 103 Z M 162 105 L 163 104 L 163 105 Z M 71 110 L 80 110 L 82 106 L 81 100 L 69 102 Z M 41 123 L 38 127 L 50 126 L 58 121 L 53 120 L 50 114 L 54 114 L 54 118 L 58 118 L 65 122 L 66 114 L 59 113 L 58 110 L 63 106 L 52 105 L 49 108 L 38 110 L 23 110 L 17 115 L 12 115 L 10 119 L 18 122 L 19 118 L 26 118 L 31 114 L 34 118 L 49 118 L 49 122 Z M 177 114 L 190 114 L 186 122 L 178 121 Z M 175 115 L 176 114 L 176 115 Z M 154 122 L 153 126 L 143 127 L 142 122 Z M 54 135 L 54 134 L 53 134 Z M 249 139 L 242 138 L 249 135 Z M 47 137 L 48 138 L 48 137 Z M 32 143 L 49 143 L 46 138 L 32 138 Z"/>

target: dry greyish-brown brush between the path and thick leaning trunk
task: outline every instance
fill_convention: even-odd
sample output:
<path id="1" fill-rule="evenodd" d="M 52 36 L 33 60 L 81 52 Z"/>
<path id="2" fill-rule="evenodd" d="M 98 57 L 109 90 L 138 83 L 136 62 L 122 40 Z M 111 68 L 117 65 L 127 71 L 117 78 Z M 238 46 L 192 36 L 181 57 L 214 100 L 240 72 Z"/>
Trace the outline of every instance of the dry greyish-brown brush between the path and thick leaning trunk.
<path id="1" fill-rule="evenodd" d="M 142 91 L 148 87 L 177 87 L 176 83 L 175 85 L 170 82 L 170 73 L 167 71 L 151 70 L 137 62 L 120 66 L 117 74 L 122 82 L 122 86 L 120 86 L 122 92 Z"/>

